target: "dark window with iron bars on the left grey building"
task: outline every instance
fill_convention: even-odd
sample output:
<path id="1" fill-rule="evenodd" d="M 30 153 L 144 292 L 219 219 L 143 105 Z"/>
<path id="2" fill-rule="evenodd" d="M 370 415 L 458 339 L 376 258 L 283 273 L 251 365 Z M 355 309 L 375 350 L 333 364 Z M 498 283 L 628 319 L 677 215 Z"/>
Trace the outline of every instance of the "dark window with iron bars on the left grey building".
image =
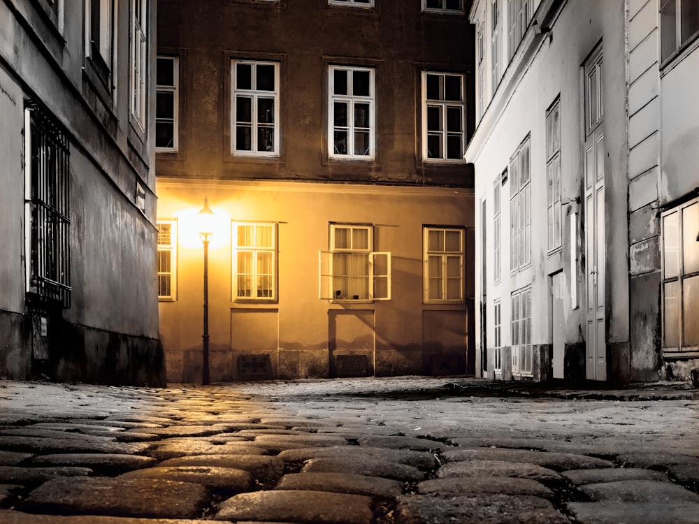
<path id="1" fill-rule="evenodd" d="M 39 305 L 71 305 L 68 137 L 35 103 L 24 110 L 27 295 Z"/>

